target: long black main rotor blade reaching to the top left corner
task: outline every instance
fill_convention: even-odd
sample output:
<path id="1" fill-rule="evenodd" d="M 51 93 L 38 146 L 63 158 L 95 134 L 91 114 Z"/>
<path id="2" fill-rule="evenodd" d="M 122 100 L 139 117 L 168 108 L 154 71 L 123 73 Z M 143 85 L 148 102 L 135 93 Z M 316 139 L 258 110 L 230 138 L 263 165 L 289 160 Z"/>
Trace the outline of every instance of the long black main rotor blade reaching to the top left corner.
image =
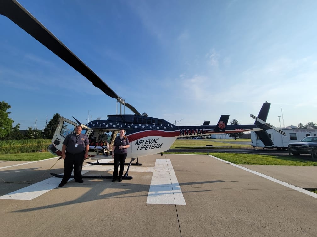
<path id="1" fill-rule="evenodd" d="M 1 0 L 0 14 L 8 17 L 11 21 L 42 43 L 42 45 L 63 59 L 81 75 L 92 82 L 95 87 L 99 88 L 112 98 L 119 98 L 119 96 L 114 93 L 114 91 L 108 87 L 99 76 L 97 76 L 16 0 Z"/>

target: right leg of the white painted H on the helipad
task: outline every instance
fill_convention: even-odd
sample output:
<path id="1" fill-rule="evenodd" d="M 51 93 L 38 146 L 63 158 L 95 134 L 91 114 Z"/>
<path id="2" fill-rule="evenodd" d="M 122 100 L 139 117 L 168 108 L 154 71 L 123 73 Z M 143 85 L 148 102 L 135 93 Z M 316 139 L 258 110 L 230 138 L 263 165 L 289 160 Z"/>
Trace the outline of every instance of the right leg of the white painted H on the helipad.
<path id="1" fill-rule="evenodd" d="M 186 205 L 170 159 L 156 159 L 146 203 Z"/>

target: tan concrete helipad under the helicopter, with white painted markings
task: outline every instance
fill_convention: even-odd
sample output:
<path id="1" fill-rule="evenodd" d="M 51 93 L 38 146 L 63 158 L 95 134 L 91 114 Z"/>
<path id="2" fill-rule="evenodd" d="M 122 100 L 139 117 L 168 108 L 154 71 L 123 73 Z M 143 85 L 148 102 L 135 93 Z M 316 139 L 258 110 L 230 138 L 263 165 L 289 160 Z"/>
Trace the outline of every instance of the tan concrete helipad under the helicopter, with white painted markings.
<path id="1" fill-rule="evenodd" d="M 49 174 L 63 173 L 56 161 L 0 162 L 2 236 L 317 233 L 317 195 L 301 189 L 317 187 L 317 167 L 236 166 L 209 155 L 164 154 L 140 158 L 142 166 L 130 167 L 131 180 L 57 187 L 61 179 Z M 112 168 L 85 165 L 83 173 L 111 175 Z"/>

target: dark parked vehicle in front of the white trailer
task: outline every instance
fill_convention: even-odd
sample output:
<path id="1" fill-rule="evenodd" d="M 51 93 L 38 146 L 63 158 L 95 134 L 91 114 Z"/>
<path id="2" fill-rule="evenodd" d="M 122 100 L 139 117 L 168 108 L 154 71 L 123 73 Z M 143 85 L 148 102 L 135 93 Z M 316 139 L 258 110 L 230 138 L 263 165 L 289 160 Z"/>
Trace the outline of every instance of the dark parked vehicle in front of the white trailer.
<path id="1" fill-rule="evenodd" d="M 300 142 L 288 144 L 289 155 L 311 154 L 313 158 L 317 158 L 317 136 L 305 137 Z"/>

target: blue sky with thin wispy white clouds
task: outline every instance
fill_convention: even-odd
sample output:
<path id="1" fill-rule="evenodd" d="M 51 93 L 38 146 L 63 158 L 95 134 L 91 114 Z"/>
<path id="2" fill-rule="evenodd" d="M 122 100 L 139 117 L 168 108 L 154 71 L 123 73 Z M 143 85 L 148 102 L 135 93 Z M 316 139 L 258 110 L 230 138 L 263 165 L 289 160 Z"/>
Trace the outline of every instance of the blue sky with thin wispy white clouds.
<path id="1" fill-rule="evenodd" d="M 317 123 L 317 1 L 19 3 L 140 113 L 253 124 L 268 101 L 272 125 Z M 116 114 L 115 99 L 3 15 L 0 28 L 0 101 L 13 125 Z"/>

